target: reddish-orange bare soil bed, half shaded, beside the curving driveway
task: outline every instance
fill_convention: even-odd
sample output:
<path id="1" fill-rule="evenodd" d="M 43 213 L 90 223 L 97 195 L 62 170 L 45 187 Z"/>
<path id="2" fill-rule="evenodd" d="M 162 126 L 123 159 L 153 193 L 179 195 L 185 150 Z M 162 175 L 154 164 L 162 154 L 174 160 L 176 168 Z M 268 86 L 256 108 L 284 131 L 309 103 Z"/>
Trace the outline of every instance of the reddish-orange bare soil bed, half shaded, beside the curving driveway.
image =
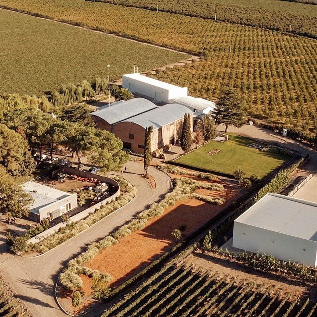
<path id="1" fill-rule="evenodd" d="M 217 206 L 196 199 L 183 199 L 166 208 L 163 215 L 150 219 L 143 230 L 135 231 L 122 238 L 118 244 L 102 250 L 86 266 L 101 273 L 109 273 L 113 276 L 110 285 L 120 285 L 175 244 L 171 240 L 173 229 L 185 225 L 187 228 L 183 236 L 188 236 L 215 217 L 239 195 L 237 190 L 229 188 L 223 192 L 204 190 L 203 193 L 214 197 L 226 197 L 227 201 Z M 85 277 L 83 282 L 83 288 L 88 292 L 91 281 Z"/>

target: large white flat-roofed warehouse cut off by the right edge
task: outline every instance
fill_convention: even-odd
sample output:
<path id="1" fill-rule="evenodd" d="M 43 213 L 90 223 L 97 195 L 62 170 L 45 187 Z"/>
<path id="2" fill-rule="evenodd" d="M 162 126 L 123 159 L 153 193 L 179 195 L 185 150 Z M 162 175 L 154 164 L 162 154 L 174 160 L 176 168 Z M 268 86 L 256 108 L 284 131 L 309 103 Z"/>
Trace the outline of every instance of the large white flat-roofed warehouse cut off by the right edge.
<path id="1" fill-rule="evenodd" d="M 316 266 L 317 204 L 268 193 L 234 221 L 232 246 Z"/>

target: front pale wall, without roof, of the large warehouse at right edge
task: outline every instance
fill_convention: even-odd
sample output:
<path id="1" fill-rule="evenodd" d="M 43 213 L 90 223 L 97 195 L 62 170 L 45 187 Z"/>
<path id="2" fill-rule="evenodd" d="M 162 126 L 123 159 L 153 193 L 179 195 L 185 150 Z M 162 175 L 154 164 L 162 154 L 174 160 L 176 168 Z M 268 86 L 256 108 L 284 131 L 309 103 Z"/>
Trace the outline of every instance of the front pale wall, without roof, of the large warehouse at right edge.
<path id="1" fill-rule="evenodd" d="M 272 243 L 274 241 L 274 243 Z M 279 260 L 316 266 L 317 242 L 234 222 L 234 248 L 272 255 Z M 305 251 L 304 251 L 305 249 Z"/>

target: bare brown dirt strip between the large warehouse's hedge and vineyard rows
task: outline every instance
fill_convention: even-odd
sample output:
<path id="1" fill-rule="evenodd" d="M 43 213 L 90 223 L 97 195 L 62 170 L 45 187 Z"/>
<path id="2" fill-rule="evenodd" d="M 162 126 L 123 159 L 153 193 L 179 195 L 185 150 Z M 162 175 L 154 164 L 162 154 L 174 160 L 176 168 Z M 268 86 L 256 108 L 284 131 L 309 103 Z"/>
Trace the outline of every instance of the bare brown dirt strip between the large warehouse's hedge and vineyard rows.
<path id="1" fill-rule="evenodd" d="M 262 285 L 262 289 L 269 290 L 271 294 L 280 294 L 281 298 L 289 293 L 290 300 L 295 300 L 301 296 L 309 296 L 314 301 L 317 299 L 316 285 L 313 283 L 261 272 L 220 256 L 214 256 L 211 253 L 194 252 L 184 259 L 183 263 L 185 265 L 192 263 L 197 268 L 210 270 L 212 273 L 217 272 L 220 276 L 234 276 L 238 280 L 253 281 L 256 285 Z"/>

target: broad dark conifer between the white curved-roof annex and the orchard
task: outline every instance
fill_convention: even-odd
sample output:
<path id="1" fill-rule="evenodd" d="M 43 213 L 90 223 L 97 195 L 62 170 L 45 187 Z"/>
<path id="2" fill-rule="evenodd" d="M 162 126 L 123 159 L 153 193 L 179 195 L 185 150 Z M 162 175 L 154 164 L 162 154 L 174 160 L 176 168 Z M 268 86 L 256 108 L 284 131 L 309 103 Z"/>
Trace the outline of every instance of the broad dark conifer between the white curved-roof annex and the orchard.
<path id="1" fill-rule="evenodd" d="M 217 102 L 216 121 L 222 123 L 228 130 L 228 126 L 240 128 L 244 124 L 245 111 L 242 107 L 239 94 L 232 87 L 224 87 Z"/>

